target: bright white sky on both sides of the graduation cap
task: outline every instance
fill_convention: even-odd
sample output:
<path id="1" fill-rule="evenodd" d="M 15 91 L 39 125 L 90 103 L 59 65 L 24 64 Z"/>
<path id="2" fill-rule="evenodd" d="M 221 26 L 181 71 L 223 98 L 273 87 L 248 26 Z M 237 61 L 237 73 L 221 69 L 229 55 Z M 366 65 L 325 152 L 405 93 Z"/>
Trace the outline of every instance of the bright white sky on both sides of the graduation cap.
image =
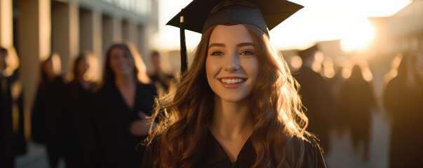
<path id="1" fill-rule="evenodd" d="M 176 27 L 165 26 L 191 0 L 158 0 L 159 32 L 152 47 L 179 50 L 180 35 Z M 304 49 L 316 41 L 346 39 L 366 40 L 374 34 L 368 17 L 387 17 L 411 3 L 411 0 L 290 0 L 304 8 L 270 31 L 270 40 L 279 50 Z M 201 34 L 185 31 L 187 48 L 198 45 Z M 369 40 L 369 39 L 367 39 Z"/>

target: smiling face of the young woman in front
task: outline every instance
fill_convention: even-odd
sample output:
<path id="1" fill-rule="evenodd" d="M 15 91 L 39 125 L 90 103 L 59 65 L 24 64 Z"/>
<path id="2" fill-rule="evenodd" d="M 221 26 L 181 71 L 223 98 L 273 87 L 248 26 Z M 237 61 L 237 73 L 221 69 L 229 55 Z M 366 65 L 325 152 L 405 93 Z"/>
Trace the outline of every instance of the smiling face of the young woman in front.
<path id="1" fill-rule="evenodd" d="M 217 25 L 208 43 L 206 75 L 210 88 L 226 102 L 240 102 L 253 91 L 259 63 L 253 37 L 243 25 Z"/>

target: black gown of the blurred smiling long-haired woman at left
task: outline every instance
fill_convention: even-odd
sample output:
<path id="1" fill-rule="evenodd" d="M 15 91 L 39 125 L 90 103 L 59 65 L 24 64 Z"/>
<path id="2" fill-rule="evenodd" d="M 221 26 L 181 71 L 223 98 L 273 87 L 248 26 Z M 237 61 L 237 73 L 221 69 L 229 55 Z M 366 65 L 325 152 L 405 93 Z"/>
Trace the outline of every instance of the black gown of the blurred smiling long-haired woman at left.
<path id="1" fill-rule="evenodd" d="M 114 85 L 102 87 L 95 95 L 95 125 L 98 137 L 98 167 L 137 167 L 142 163 L 145 147 L 137 144 L 145 136 L 134 137 L 129 132 L 130 124 L 140 120 L 138 112 L 151 115 L 156 88 L 153 85 L 138 84 L 135 104 L 129 109 Z M 137 150 L 136 150 L 137 148 Z"/>

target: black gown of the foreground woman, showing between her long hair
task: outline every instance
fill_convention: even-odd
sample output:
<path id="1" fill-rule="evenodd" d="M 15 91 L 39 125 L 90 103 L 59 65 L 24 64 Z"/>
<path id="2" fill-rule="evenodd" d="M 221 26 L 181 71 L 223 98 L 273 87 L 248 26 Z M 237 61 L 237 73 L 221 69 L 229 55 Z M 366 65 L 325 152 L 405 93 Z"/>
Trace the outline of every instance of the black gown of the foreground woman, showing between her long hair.
<path id="1" fill-rule="evenodd" d="M 325 161 L 323 160 L 323 155 L 321 153 L 318 144 L 314 139 L 308 137 L 310 142 L 306 142 L 304 149 L 304 162 L 302 167 L 325 167 Z M 161 137 L 156 137 L 152 144 L 147 147 L 145 151 L 145 158 L 142 161 L 142 168 L 152 168 L 153 162 L 159 157 L 160 151 L 160 141 Z M 204 152 L 201 153 L 200 160 L 196 167 L 209 167 L 209 168 L 222 168 L 222 167 L 238 167 L 238 168 L 248 168 L 254 165 L 255 151 L 253 144 L 250 139 L 246 141 L 246 144 L 243 145 L 239 155 L 236 159 L 236 162 L 231 162 L 227 153 L 224 151 L 222 146 L 210 131 L 207 132 L 206 144 L 204 144 Z"/>

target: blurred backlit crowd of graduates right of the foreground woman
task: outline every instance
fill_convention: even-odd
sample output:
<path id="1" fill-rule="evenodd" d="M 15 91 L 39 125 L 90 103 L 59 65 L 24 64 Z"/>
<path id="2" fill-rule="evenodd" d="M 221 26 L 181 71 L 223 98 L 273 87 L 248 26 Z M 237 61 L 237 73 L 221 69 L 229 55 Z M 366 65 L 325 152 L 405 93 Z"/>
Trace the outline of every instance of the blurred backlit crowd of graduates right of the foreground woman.
<path id="1" fill-rule="evenodd" d="M 415 130 L 423 126 L 422 53 L 399 53 L 385 76 L 383 93 L 377 97 L 372 80 L 363 75 L 363 64 L 354 64 L 348 78 L 342 77 L 342 67 L 327 78 L 312 69 L 316 52 L 317 45 L 298 52 L 302 66 L 293 76 L 300 83 L 299 93 L 309 118 L 307 129 L 318 136 L 325 155 L 332 151 L 332 130 L 349 132 L 354 152 L 362 151 L 361 160 L 368 162 L 372 113 L 384 109 L 391 122 L 389 167 L 419 167 L 418 158 L 423 156 L 419 141 L 423 134 Z M 382 99 L 383 106 L 378 105 L 377 98 Z"/>

